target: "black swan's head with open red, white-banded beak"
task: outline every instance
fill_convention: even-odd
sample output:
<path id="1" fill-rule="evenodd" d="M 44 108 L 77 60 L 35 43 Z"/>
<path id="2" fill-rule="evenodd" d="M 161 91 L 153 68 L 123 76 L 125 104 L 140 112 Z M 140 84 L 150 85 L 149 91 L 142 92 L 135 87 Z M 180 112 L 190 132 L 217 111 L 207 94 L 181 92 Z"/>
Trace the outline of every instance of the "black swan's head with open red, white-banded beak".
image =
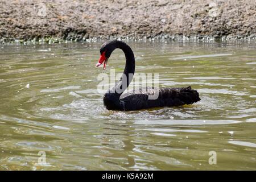
<path id="1" fill-rule="evenodd" d="M 104 43 L 101 48 L 100 48 L 100 59 L 98 60 L 98 63 L 96 64 L 96 67 L 100 67 L 100 65 L 102 63 L 104 63 L 103 65 L 103 69 L 106 69 L 106 65 L 108 63 L 108 59 L 111 55 L 111 53 L 114 51 L 115 49 L 115 41 L 109 41 Z"/>

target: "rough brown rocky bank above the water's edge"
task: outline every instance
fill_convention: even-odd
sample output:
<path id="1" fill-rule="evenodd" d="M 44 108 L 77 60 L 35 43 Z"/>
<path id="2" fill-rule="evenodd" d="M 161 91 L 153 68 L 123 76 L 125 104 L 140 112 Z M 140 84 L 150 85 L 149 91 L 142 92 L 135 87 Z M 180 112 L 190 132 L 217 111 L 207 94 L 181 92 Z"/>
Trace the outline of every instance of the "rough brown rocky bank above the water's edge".
<path id="1" fill-rule="evenodd" d="M 0 39 L 255 38 L 255 0 L 1 0 Z"/>

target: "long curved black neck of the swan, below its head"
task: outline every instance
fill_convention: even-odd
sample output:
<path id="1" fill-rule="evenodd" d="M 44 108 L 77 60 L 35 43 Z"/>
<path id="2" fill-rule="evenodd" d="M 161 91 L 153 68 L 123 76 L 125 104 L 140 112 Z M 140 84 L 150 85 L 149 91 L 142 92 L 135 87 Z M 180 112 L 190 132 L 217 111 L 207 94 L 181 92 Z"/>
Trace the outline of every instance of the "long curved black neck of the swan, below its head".
<path id="1" fill-rule="evenodd" d="M 125 70 L 123 71 L 123 74 L 120 80 L 118 82 L 115 82 L 115 86 L 112 89 L 108 90 L 108 92 L 105 94 L 104 105 L 106 107 L 108 107 L 110 103 L 112 105 L 121 104 L 119 102 L 119 98 L 121 94 L 129 86 L 131 80 L 133 80 L 133 75 L 135 72 L 135 58 L 131 48 L 126 43 L 115 41 L 113 51 L 116 48 L 122 49 L 122 51 L 125 53 L 125 59 L 126 59 Z"/>

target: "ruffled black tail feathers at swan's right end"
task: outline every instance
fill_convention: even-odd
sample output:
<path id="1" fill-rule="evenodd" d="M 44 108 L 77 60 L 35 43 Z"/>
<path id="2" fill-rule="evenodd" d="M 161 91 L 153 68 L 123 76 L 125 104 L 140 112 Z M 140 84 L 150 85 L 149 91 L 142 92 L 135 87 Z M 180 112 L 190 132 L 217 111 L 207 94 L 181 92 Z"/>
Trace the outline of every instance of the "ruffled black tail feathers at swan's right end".
<path id="1" fill-rule="evenodd" d="M 199 93 L 196 90 L 191 89 L 191 86 L 180 89 L 180 99 L 184 104 L 193 104 L 200 101 Z"/>

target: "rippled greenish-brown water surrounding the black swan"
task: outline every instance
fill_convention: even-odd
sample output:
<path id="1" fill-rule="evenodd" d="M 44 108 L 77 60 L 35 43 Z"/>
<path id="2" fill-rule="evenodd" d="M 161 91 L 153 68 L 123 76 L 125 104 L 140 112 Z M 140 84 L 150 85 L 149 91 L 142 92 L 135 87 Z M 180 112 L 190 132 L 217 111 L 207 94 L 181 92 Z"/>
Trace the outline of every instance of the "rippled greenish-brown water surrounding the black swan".
<path id="1" fill-rule="evenodd" d="M 201 101 L 108 111 L 94 67 L 101 43 L 2 45 L 0 170 L 256 169 L 255 43 L 129 44 L 137 73 L 191 85 Z M 114 68 L 121 51 L 104 73 Z"/>

